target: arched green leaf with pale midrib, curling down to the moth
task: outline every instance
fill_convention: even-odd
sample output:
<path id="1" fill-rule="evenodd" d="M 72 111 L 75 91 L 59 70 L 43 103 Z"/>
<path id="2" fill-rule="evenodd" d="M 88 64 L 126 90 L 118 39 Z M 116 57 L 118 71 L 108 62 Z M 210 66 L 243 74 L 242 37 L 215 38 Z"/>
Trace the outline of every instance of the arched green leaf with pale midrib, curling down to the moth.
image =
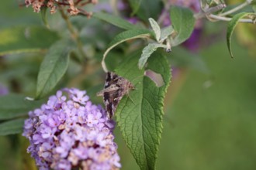
<path id="1" fill-rule="evenodd" d="M 151 32 L 147 29 L 132 29 L 119 33 L 117 36 L 114 37 L 114 39 L 112 39 L 112 42 L 109 43 L 108 49 L 106 49 L 105 53 L 103 54 L 102 63 L 105 63 L 105 58 L 109 51 L 120 43 L 128 41 L 130 39 L 142 39 L 148 38 L 150 36 Z"/>

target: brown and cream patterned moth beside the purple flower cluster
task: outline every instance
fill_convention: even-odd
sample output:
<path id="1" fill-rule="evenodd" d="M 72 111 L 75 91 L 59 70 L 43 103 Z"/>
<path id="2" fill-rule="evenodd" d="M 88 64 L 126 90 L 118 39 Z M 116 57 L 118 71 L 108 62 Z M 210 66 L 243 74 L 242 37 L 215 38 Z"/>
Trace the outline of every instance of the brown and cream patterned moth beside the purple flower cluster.
<path id="1" fill-rule="evenodd" d="M 104 89 L 97 93 L 97 96 L 102 96 L 108 117 L 111 119 L 116 112 L 116 107 L 124 95 L 130 93 L 130 90 L 135 90 L 135 87 L 129 80 L 113 72 L 106 74 Z"/>

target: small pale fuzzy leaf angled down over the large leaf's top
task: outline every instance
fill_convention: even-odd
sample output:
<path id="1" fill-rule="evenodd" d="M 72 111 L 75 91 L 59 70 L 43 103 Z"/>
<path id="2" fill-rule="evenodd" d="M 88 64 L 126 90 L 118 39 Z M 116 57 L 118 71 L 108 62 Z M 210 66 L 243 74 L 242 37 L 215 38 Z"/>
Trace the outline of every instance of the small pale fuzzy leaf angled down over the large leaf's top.
<path id="1" fill-rule="evenodd" d="M 147 46 L 144 47 L 144 49 L 142 50 L 140 59 L 139 59 L 139 63 L 138 63 L 139 69 L 142 69 L 145 66 L 145 64 L 147 63 L 147 59 L 159 47 L 164 48 L 165 46 L 162 44 L 157 44 L 157 43 L 149 43 Z"/>

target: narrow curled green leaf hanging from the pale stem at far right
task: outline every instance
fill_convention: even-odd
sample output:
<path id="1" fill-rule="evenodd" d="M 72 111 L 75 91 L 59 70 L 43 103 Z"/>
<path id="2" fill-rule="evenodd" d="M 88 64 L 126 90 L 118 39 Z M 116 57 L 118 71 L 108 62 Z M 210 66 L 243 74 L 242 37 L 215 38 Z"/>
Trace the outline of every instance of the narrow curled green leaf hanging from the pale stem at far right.
<path id="1" fill-rule="evenodd" d="M 237 26 L 237 23 L 239 22 L 239 19 L 243 18 L 246 15 L 251 15 L 252 13 L 247 12 L 240 12 L 237 15 L 234 15 L 234 17 L 228 22 L 227 25 L 227 48 L 230 52 L 230 56 L 233 57 L 233 53 L 231 50 L 231 36 L 234 32 L 235 27 Z"/>

